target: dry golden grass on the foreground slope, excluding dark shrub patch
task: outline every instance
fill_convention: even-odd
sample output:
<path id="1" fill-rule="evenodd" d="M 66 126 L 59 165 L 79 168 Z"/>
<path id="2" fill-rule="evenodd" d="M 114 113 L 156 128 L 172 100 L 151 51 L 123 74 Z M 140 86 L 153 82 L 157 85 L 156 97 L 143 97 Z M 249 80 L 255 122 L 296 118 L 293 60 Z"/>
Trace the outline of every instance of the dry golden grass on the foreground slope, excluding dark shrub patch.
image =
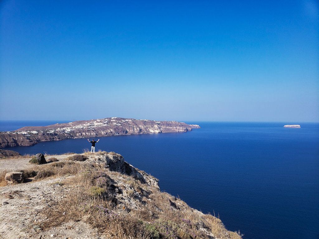
<path id="1" fill-rule="evenodd" d="M 110 232 L 116 239 L 209 238 L 204 233 L 204 228 L 219 238 L 241 239 L 240 233 L 227 231 L 218 218 L 201 214 L 182 200 L 159 192 L 156 188 L 148 187 L 147 197 L 151 200 L 145 200 L 138 209 L 117 204 L 109 196 L 107 187 L 96 186 L 96 178 L 122 177 L 122 182 L 131 186 L 126 194 L 135 198 L 135 201 L 138 201 L 139 196 L 143 197 L 143 185 L 133 177 L 108 170 L 102 171 L 98 166 L 94 168 L 78 164 L 78 167 L 79 169 L 74 171 L 78 171 L 76 176 L 65 182 L 72 185 L 73 190 L 64 200 L 59 201 L 58 205 L 43 211 L 48 220 L 39 226 L 51 228 L 70 220 L 84 220 L 100 232 Z M 97 189 L 99 192 L 95 193 Z M 61 217 L 62 214 L 65 216 Z"/>

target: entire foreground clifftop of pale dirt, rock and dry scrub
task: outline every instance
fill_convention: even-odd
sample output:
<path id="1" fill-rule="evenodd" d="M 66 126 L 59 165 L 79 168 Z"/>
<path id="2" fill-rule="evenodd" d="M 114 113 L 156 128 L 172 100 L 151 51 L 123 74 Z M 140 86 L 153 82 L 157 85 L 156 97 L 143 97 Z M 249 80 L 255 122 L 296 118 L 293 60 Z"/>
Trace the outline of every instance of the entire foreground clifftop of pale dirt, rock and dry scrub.
<path id="1" fill-rule="evenodd" d="M 0 238 L 240 239 L 116 153 L 1 159 Z M 78 161 L 81 160 L 81 161 Z M 83 160 L 83 161 L 82 161 Z M 24 161 L 24 162 L 22 162 Z M 30 161 L 31 162 L 31 161 Z M 7 184 L 12 173 L 25 178 Z"/>

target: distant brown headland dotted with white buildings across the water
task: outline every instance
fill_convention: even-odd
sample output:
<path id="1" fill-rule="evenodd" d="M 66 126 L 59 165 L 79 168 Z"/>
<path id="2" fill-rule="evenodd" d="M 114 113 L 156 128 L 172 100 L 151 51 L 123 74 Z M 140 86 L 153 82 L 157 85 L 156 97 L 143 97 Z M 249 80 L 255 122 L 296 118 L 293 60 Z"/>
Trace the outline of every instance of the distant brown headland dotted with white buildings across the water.
<path id="1" fill-rule="evenodd" d="M 186 132 L 192 128 L 200 127 L 177 121 L 135 120 L 118 117 L 81 120 L 49 126 L 23 127 L 12 132 L 0 132 L 0 148 L 31 146 L 40 141 L 70 138 Z"/>

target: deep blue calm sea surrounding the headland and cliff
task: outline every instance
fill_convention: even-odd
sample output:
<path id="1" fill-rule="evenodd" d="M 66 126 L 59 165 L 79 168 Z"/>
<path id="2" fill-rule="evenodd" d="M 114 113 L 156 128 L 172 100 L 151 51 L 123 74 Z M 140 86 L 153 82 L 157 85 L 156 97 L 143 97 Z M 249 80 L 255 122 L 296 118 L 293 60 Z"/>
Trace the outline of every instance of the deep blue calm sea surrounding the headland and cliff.
<path id="1" fill-rule="evenodd" d="M 0 123 L 1 130 L 26 126 Z M 162 191 L 219 214 L 226 228 L 240 230 L 244 239 L 319 238 L 319 124 L 294 129 L 283 123 L 187 123 L 202 128 L 102 137 L 96 149 L 122 154 L 159 178 Z M 84 148 L 90 148 L 86 138 L 6 149 L 60 154 Z"/>

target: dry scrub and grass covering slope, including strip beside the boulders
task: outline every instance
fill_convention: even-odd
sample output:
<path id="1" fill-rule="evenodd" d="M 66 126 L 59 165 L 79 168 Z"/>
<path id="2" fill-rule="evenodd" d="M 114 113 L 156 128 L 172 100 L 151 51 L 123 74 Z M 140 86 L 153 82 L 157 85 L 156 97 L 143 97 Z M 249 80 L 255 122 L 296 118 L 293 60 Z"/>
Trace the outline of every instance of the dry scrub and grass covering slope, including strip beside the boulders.
<path id="1" fill-rule="evenodd" d="M 101 151 L 100 154 L 105 153 Z M 70 159 L 79 156 L 81 160 Z M 219 218 L 201 214 L 181 199 L 160 192 L 156 187 L 101 168 L 98 164 L 76 162 L 83 161 L 83 157 L 87 158 L 74 155 L 67 162 L 19 170 L 26 178 L 34 177 L 34 180 L 74 175 L 55 182 L 70 191 L 66 191 L 57 204 L 40 212 L 46 219 L 34 223 L 36 230 L 82 220 L 100 232 L 108 231 L 114 239 L 241 239 L 239 232 L 227 231 Z M 0 185 L 6 172 L 0 172 Z M 122 189 L 123 194 L 115 189 Z"/>

